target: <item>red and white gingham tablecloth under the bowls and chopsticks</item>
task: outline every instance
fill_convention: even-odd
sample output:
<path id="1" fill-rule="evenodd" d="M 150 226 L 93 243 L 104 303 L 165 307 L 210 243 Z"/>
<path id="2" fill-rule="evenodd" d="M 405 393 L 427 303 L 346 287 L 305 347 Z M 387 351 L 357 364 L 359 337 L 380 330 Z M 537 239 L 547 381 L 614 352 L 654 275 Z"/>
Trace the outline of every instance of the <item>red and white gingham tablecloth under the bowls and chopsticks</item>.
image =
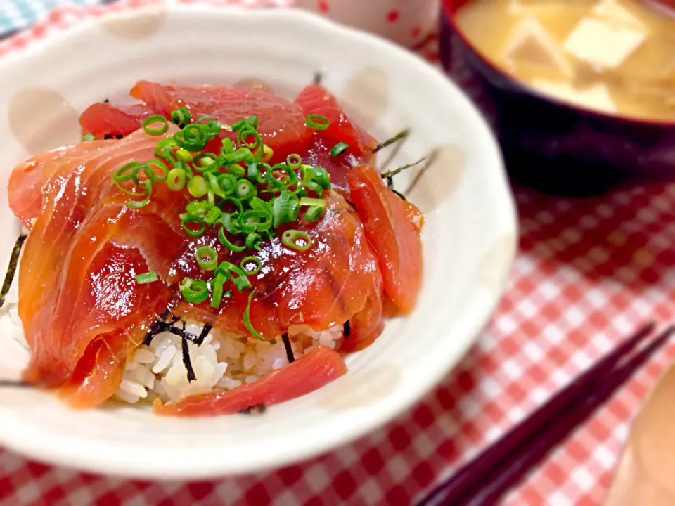
<path id="1" fill-rule="evenodd" d="M 56 11 L 50 22 L 82 15 Z M 39 25 L 24 37 L 48 30 Z M 435 58 L 433 48 L 427 56 Z M 456 370 L 408 415 L 300 465 L 189 484 L 79 474 L 0 450 L 0 505 L 413 504 L 640 323 L 675 313 L 675 186 L 588 200 L 522 188 L 515 195 L 520 254 L 499 309 Z M 504 504 L 599 505 L 631 418 L 674 357 L 675 343 Z"/>

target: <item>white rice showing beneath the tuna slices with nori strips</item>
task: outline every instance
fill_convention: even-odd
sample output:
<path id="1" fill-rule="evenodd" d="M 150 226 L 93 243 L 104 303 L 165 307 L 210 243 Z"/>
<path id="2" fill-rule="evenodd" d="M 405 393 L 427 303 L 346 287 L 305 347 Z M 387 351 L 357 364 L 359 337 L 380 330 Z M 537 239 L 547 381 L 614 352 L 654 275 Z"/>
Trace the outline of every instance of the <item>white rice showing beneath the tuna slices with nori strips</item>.
<path id="1" fill-rule="evenodd" d="M 188 323 L 185 330 L 199 335 L 202 327 Z M 301 356 L 319 344 L 338 349 L 342 343 L 342 330 L 342 325 L 319 332 L 307 325 L 291 325 L 288 336 L 294 356 Z M 189 382 L 181 345 L 180 336 L 162 332 L 153 338 L 150 346 L 139 346 L 124 368 L 122 384 L 114 397 L 127 403 L 155 398 L 176 402 L 195 394 L 250 384 L 266 372 L 288 365 L 281 336 L 276 337 L 276 344 L 271 344 L 211 330 L 200 346 L 188 342 L 195 372 L 195 380 Z"/>

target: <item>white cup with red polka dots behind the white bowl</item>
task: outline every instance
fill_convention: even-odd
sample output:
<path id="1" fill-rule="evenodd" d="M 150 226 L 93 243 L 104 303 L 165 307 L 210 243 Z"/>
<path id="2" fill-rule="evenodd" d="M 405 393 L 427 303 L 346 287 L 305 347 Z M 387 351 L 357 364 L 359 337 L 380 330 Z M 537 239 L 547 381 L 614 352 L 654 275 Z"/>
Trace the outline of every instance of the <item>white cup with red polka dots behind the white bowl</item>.
<path id="1" fill-rule="evenodd" d="M 296 0 L 295 5 L 414 46 L 435 28 L 439 0 Z"/>

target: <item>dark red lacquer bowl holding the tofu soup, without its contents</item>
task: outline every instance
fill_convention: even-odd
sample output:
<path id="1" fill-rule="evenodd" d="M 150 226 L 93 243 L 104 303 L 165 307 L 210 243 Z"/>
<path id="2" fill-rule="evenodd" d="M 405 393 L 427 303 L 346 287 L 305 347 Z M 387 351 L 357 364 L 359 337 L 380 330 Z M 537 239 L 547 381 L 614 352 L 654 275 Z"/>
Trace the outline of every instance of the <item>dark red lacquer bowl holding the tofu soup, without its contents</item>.
<path id="1" fill-rule="evenodd" d="M 441 60 L 494 117 L 513 181 L 576 196 L 605 193 L 619 183 L 675 181 L 675 122 L 605 115 L 519 82 L 483 58 L 457 27 L 454 13 L 467 1 L 444 0 Z"/>

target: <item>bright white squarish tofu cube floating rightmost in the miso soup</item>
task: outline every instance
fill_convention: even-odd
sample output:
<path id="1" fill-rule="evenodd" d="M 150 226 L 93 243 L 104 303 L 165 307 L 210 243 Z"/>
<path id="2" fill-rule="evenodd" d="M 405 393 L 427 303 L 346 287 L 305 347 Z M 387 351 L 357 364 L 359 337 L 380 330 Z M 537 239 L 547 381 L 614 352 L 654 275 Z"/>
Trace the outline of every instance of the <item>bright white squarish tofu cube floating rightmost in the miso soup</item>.
<path id="1" fill-rule="evenodd" d="M 605 21 L 584 18 L 565 39 L 565 51 L 579 60 L 613 70 L 622 65 L 645 39 L 645 30 L 613 27 Z"/>

